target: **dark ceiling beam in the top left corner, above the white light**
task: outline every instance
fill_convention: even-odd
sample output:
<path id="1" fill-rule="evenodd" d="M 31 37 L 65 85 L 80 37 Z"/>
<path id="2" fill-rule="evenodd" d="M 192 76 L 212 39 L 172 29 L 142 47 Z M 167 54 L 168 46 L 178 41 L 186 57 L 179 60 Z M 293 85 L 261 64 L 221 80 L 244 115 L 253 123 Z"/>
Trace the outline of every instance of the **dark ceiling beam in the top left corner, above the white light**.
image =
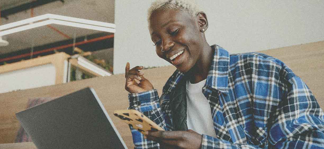
<path id="1" fill-rule="evenodd" d="M 5 10 L 1 10 L 1 17 L 8 19 L 8 16 L 21 12 L 21 11 L 26 11 L 28 9 L 31 8 L 35 8 L 41 5 L 45 5 L 51 2 L 55 2 L 55 1 L 61 1 L 62 3 L 64 3 L 64 0 L 37 0 L 37 1 L 31 1 L 29 3 L 25 3 L 22 5 L 18 5 L 9 9 L 5 9 Z"/>

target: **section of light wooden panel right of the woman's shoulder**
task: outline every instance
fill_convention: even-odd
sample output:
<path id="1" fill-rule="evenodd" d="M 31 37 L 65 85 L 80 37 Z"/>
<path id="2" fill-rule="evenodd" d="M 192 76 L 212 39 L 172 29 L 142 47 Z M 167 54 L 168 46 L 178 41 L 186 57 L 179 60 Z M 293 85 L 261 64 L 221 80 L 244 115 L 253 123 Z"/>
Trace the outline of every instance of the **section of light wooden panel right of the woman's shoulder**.
<path id="1" fill-rule="evenodd" d="M 283 61 L 299 76 L 324 109 L 324 41 L 260 51 Z"/>

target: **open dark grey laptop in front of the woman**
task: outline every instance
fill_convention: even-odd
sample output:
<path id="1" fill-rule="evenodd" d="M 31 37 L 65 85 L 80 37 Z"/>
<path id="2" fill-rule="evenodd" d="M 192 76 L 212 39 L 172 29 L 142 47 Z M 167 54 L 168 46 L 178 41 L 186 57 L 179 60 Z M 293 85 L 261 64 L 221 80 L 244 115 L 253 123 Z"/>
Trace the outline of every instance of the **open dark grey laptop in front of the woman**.
<path id="1" fill-rule="evenodd" d="M 126 148 L 92 88 L 16 113 L 38 149 Z"/>

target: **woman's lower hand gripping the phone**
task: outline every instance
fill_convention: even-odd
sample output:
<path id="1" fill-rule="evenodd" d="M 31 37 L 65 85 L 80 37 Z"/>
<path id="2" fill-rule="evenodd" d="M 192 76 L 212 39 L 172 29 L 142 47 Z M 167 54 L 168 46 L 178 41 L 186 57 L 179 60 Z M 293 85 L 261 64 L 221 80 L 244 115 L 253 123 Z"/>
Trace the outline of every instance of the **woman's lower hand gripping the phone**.
<path id="1" fill-rule="evenodd" d="M 187 131 L 150 131 L 148 140 L 158 142 L 164 148 L 199 149 L 202 135 L 193 130 Z"/>

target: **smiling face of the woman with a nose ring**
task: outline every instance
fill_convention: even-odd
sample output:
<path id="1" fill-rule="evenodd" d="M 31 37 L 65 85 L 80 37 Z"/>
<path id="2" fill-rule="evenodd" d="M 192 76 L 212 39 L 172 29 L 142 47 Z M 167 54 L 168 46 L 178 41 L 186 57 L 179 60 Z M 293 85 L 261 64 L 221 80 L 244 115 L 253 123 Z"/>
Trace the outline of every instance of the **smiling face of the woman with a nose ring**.
<path id="1" fill-rule="evenodd" d="M 201 57 L 203 45 L 198 19 L 188 12 L 157 9 L 150 17 L 149 30 L 156 54 L 179 71 L 187 72 Z"/>

